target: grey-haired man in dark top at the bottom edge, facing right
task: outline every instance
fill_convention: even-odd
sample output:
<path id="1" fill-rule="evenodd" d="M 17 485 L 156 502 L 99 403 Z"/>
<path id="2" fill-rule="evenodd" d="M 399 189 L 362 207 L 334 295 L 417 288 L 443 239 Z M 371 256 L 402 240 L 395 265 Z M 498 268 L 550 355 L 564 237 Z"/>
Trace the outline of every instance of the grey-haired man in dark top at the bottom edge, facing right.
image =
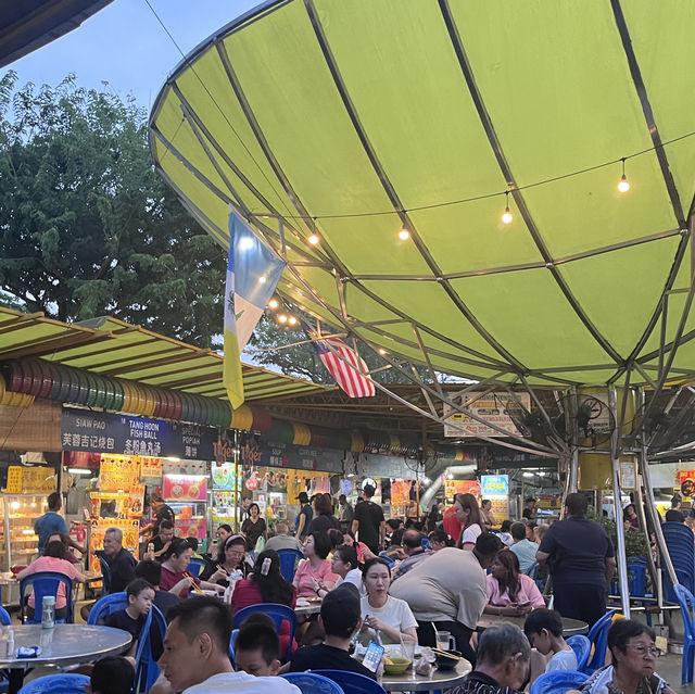
<path id="1" fill-rule="evenodd" d="M 447 694 L 516 694 L 529 676 L 531 646 L 515 624 L 496 624 L 478 639 L 478 664 Z"/>

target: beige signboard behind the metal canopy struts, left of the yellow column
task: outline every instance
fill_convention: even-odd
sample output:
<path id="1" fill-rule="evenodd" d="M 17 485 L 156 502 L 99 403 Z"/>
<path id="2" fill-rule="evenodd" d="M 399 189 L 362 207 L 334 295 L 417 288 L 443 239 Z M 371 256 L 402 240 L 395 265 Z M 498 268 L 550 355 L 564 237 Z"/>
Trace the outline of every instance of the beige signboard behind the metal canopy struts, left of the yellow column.
<path id="1" fill-rule="evenodd" d="M 531 409 L 531 396 L 528 393 L 515 393 L 514 398 L 509 393 L 465 393 L 456 398 L 456 404 L 466 407 L 471 414 L 480 419 L 490 422 L 503 429 L 502 433 L 492 427 L 489 427 L 473 419 L 471 416 L 454 409 L 451 405 L 444 403 L 444 436 L 455 439 L 466 437 L 505 437 L 507 433 L 520 436 L 511 417 L 507 413 L 508 403 L 514 406 L 523 406 L 527 411 Z"/>

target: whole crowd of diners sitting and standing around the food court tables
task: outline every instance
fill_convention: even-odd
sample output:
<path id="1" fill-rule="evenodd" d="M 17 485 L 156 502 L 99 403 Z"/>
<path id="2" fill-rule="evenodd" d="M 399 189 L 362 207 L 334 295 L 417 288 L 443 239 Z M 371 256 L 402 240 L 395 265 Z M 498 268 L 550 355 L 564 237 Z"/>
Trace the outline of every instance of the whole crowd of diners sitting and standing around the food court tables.
<path id="1" fill-rule="evenodd" d="M 569 494 L 564 520 L 548 527 L 538 522 L 532 499 L 516 522 L 500 522 L 488 503 L 456 494 L 443 515 L 433 508 L 420 521 L 404 525 L 384 518 L 371 501 L 372 488 L 364 492 L 354 507 L 340 496 L 336 510 L 328 494 L 311 500 L 300 494 L 294 535 L 279 521 L 268 537 L 257 505 L 249 504 L 241 532 L 227 525 L 216 529 L 216 547 L 204 557 L 200 576 L 188 570 L 198 543 L 175 537 L 173 514 L 161 500 L 154 501 L 153 522 L 144 527 L 149 542 L 142 560 L 123 546 L 122 532 L 110 528 L 98 555 L 109 567 L 110 591 L 125 591 L 127 607 L 106 623 L 129 632 L 134 647 L 153 605 L 168 623 L 166 634 L 152 640 L 162 668 L 153 694 L 261 692 L 269 686 L 290 692 L 295 690 L 287 681 L 276 678 L 270 684 L 265 678 L 308 669 L 343 669 L 374 678 L 351 655 L 357 644 L 437 646 L 442 632 L 473 667 L 453 694 L 508 694 L 543 671 L 577 668 L 574 653 L 563 639 L 561 618 L 589 626 L 598 620 L 606 611 L 606 585 L 616 565 L 606 531 L 586 518 L 583 494 Z M 47 514 L 39 519 L 45 542 L 25 571 L 59 571 L 79 581 L 80 573 L 66 558 L 72 547 L 58 510 L 53 500 L 49 514 L 58 518 Z M 292 582 L 280 570 L 281 550 L 303 554 Z M 552 577 L 552 610 L 529 575 L 544 568 Z M 193 600 L 191 591 L 208 595 Z M 220 600 L 223 593 L 230 604 Z M 252 615 L 237 636 L 235 671 L 229 659 L 233 615 L 263 603 L 295 608 L 298 598 L 320 600 L 320 613 L 298 619 L 292 643 L 287 621 L 277 630 L 266 615 Z M 61 601 L 59 595 L 56 607 L 64 605 L 65 596 Z M 483 616 L 520 620 L 523 630 L 500 623 L 478 634 Z M 608 682 L 623 694 L 637 694 L 648 681 L 660 687 L 650 691 L 668 693 L 654 673 L 650 630 L 621 620 L 610 633 L 612 665 L 593 677 L 585 691 L 610 693 Z M 642 670 L 635 679 L 637 666 Z"/>

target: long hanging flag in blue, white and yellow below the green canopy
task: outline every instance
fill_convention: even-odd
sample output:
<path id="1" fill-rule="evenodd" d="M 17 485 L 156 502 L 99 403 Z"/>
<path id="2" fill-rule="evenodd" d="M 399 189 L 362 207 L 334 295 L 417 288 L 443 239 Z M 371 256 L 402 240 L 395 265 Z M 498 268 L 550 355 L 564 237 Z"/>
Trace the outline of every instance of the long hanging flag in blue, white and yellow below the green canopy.
<path id="1" fill-rule="evenodd" d="M 229 258 L 225 291 L 223 380 L 233 409 L 243 404 L 241 353 L 261 320 L 285 262 L 253 234 L 236 212 L 229 214 Z"/>

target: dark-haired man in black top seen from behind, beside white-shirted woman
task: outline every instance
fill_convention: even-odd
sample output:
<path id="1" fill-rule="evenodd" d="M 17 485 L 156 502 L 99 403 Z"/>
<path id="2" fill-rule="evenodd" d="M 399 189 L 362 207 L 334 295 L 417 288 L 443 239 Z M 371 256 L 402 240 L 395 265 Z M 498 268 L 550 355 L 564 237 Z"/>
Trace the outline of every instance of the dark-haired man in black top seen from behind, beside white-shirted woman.
<path id="1" fill-rule="evenodd" d="M 306 670 L 348 670 L 376 679 L 376 674 L 350 656 L 350 640 L 362 627 L 359 593 L 352 583 L 342 583 L 324 597 L 320 619 L 326 636 L 317 646 L 305 646 L 292 654 L 291 672 Z"/>

